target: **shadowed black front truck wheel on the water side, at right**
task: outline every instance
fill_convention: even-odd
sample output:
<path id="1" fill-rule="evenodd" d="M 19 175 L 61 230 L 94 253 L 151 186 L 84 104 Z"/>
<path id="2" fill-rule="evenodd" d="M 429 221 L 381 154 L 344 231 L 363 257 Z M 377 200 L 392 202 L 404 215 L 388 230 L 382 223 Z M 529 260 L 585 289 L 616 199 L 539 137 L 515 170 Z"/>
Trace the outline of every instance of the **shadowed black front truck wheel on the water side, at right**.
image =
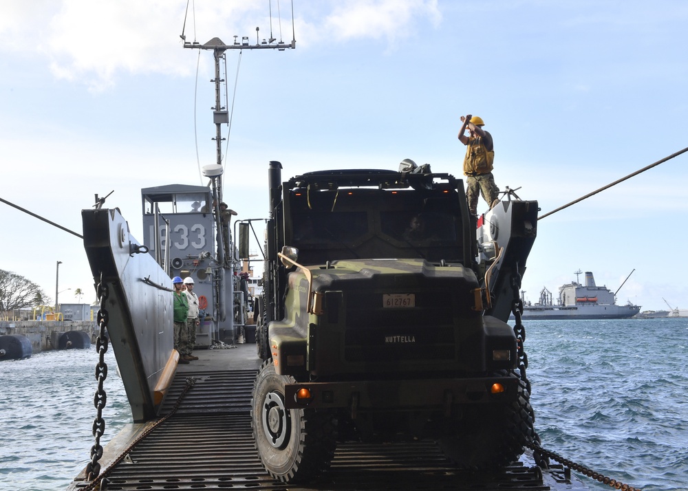
<path id="1" fill-rule="evenodd" d="M 451 433 L 438 441 L 444 455 L 467 469 L 496 468 L 517 460 L 535 434 L 530 393 L 520 379 L 518 392 L 510 404 L 465 406 L 463 414 L 449 422 Z"/>

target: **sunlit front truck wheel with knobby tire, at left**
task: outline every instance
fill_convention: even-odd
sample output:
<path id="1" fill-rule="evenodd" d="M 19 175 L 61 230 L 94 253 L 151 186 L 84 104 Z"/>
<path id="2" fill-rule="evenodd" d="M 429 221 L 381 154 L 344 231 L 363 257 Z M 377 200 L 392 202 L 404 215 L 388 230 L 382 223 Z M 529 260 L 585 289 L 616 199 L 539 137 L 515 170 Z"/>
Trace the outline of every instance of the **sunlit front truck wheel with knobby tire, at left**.
<path id="1" fill-rule="evenodd" d="M 332 411 L 286 409 L 287 382 L 294 378 L 277 375 L 272 360 L 264 362 L 253 386 L 251 427 L 268 474 L 285 483 L 303 482 L 330 467 L 336 419 Z"/>

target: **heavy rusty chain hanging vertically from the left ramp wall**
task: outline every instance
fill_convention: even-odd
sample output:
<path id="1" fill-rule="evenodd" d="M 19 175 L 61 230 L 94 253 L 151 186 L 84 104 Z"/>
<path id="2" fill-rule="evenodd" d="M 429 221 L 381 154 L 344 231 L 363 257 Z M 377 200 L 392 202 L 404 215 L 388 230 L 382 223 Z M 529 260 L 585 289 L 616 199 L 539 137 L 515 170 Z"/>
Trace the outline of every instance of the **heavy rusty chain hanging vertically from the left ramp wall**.
<path id="1" fill-rule="evenodd" d="M 98 380 L 98 389 L 94 395 L 94 406 L 96 406 L 96 419 L 93 420 L 93 436 L 96 437 L 96 443 L 91 447 L 91 461 L 86 466 L 86 479 L 93 481 L 100 473 L 100 457 L 103 457 L 103 447 L 100 446 L 100 437 L 105 433 L 105 419 L 103 419 L 103 408 L 107 402 L 107 394 L 103 389 L 103 382 L 107 378 L 107 364 L 105 363 L 105 352 L 107 351 L 107 336 L 105 334 L 108 323 L 107 309 L 105 308 L 105 301 L 109 294 L 107 285 L 103 281 L 103 272 L 100 272 L 100 282 L 96 287 L 96 293 L 100 299 L 100 310 L 98 310 L 98 325 L 100 326 L 100 333 L 96 339 L 96 351 L 98 351 L 98 364 L 96 365 L 96 380 Z"/>

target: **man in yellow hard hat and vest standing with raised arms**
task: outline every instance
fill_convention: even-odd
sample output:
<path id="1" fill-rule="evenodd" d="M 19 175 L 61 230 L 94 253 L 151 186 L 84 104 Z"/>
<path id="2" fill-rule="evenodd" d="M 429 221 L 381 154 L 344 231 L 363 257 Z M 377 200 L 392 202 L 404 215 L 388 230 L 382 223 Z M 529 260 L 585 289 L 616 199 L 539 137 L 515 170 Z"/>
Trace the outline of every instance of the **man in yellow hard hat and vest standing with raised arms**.
<path id="1" fill-rule="evenodd" d="M 469 202 L 469 210 L 477 215 L 478 194 L 487 201 L 492 208 L 499 195 L 499 188 L 495 184 L 492 175 L 493 162 L 495 161 L 495 149 L 492 135 L 482 129 L 485 122 L 479 116 L 461 116 L 461 129 L 458 138 L 466 145 L 464 157 L 464 175 L 466 176 L 466 199 Z M 466 129 L 469 134 L 465 135 Z"/>

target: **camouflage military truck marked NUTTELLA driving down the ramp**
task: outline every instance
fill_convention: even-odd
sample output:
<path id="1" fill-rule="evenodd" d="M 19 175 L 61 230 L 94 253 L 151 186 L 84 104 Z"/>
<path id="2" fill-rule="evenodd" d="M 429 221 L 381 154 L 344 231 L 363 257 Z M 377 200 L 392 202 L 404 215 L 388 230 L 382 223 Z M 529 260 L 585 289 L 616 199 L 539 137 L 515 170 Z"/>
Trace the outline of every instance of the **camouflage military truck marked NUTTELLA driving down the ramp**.
<path id="1" fill-rule="evenodd" d="M 266 470 L 307 481 L 350 440 L 434 439 L 459 468 L 517 459 L 534 415 L 505 321 L 537 203 L 520 202 L 517 226 L 508 215 L 501 227 L 494 212 L 515 203 L 497 204 L 478 237 L 463 182 L 448 174 L 319 171 L 281 182 L 270 162 L 268 180 L 264 363 L 251 410 Z M 522 242 L 507 251 L 499 234 Z"/>

